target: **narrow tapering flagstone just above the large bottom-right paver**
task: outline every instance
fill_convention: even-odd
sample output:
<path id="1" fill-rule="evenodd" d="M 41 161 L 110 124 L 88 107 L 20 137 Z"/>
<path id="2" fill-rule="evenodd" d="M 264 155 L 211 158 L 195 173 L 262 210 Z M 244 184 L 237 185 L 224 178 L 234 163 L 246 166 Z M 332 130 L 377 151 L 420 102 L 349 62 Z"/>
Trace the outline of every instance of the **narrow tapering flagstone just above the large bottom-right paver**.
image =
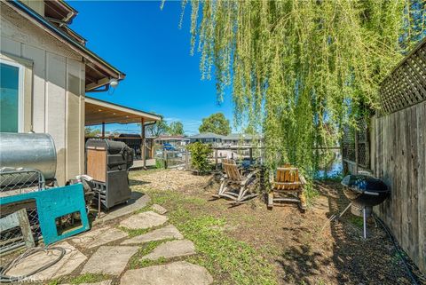
<path id="1" fill-rule="evenodd" d="M 156 247 L 151 253 L 141 259 L 155 260 L 160 257 L 183 257 L 195 254 L 195 246 L 193 241 L 167 241 Z"/>

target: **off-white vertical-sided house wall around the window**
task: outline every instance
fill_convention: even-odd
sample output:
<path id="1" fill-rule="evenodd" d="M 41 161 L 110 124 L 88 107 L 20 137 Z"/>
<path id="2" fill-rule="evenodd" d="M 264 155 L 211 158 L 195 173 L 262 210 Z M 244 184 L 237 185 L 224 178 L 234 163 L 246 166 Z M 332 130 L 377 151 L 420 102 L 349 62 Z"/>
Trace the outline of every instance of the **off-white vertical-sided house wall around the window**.
<path id="1" fill-rule="evenodd" d="M 51 134 L 63 185 L 84 171 L 83 59 L 5 4 L 0 10 L 2 54 L 33 62 L 32 116 L 24 114 L 24 130 Z"/>

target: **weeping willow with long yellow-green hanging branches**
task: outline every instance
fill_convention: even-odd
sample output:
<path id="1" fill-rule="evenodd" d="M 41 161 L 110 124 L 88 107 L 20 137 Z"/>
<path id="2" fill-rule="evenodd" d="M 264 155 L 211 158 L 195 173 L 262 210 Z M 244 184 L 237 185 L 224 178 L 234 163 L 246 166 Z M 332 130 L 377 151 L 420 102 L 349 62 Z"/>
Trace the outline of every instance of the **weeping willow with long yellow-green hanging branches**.
<path id="1" fill-rule="evenodd" d="M 201 77 L 216 78 L 219 101 L 232 88 L 236 125 L 262 130 L 270 166 L 312 175 L 312 149 L 379 108 L 378 85 L 410 46 L 411 2 L 184 0 L 183 11 L 189 3 Z"/>

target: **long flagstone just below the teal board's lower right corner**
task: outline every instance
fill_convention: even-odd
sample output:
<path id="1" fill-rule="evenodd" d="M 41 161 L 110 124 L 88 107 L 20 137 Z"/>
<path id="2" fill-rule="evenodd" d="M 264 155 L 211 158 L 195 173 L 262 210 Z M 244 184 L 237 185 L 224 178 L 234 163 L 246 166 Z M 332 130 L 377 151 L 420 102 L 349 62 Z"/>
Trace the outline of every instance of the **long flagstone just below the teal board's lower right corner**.
<path id="1" fill-rule="evenodd" d="M 104 226 L 96 230 L 91 230 L 87 233 L 77 235 L 71 241 L 83 248 L 92 249 L 111 241 L 120 240 L 127 236 L 129 236 L 129 234 L 124 233 L 117 228 Z"/>

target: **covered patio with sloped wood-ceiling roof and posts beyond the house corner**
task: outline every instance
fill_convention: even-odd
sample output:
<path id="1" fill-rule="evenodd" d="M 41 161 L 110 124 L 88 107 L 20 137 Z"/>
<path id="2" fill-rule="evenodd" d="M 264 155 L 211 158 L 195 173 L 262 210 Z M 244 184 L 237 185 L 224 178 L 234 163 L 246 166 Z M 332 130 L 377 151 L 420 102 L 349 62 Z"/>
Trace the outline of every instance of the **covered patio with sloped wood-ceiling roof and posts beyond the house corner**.
<path id="1" fill-rule="evenodd" d="M 117 105 L 114 103 L 106 102 L 100 99 L 94 99 L 91 97 L 85 98 L 84 102 L 84 125 L 85 127 L 89 126 L 101 126 L 101 134 L 96 137 L 85 137 L 85 139 L 117 139 L 124 142 L 134 142 L 133 145 L 138 145 L 140 143 L 140 160 L 135 160 L 133 162 L 134 168 L 151 166 L 154 164 L 154 142 L 147 142 L 146 139 L 146 126 L 157 123 L 162 120 L 161 115 L 154 115 L 152 113 L 147 113 L 135 108 L 124 107 L 122 105 Z M 138 123 L 140 124 L 140 136 L 138 135 L 129 135 L 129 136 L 120 136 L 120 137 L 111 137 L 106 136 L 105 126 L 107 123 Z M 127 143 L 129 144 L 129 143 Z"/>

